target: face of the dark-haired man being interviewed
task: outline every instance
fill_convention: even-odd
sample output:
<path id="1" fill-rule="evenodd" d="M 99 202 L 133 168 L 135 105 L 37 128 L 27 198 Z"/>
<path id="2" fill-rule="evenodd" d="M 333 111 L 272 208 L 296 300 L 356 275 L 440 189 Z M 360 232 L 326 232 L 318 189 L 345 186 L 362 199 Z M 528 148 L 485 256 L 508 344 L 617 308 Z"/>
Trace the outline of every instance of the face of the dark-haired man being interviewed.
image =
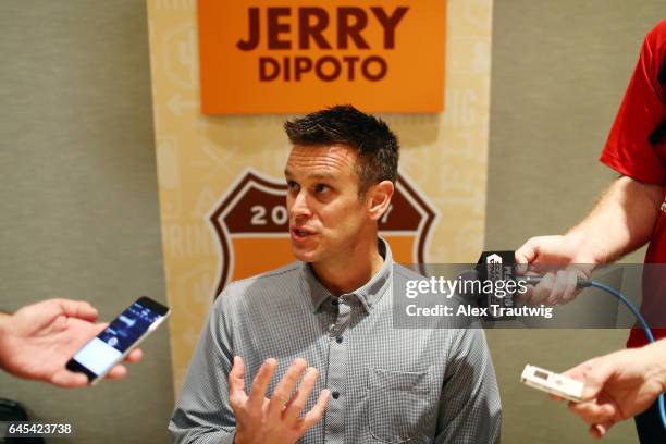
<path id="1" fill-rule="evenodd" d="M 304 262 L 344 260 L 370 221 L 358 196 L 356 150 L 296 145 L 285 169 L 294 256 Z"/>

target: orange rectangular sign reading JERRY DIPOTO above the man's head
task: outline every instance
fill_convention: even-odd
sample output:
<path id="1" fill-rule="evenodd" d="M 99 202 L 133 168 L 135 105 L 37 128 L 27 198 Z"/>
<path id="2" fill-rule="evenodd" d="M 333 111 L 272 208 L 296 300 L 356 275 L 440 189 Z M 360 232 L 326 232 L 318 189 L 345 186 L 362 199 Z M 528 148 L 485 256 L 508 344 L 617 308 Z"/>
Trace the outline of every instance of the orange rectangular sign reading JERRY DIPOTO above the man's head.
<path id="1" fill-rule="evenodd" d="M 441 112 L 445 0 L 199 0 L 205 114 Z"/>

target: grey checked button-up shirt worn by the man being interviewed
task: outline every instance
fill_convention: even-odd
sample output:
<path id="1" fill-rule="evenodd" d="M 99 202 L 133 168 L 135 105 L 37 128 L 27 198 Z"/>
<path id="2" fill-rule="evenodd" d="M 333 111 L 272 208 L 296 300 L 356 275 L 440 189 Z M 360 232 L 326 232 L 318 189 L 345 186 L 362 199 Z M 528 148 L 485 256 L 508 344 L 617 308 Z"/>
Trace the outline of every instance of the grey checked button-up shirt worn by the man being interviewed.
<path id="1" fill-rule="evenodd" d="M 304 262 L 229 284 L 169 424 L 175 442 L 233 442 L 227 375 L 235 355 L 245 361 L 248 394 L 269 357 L 279 362 L 269 397 L 295 358 L 319 370 L 303 412 L 324 387 L 332 396 L 301 443 L 498 442 L 499 394 L 483 330 L 394 329 L 392 281 L 417 275 L 379 244 L 382 269 L 338 298 Z"/>

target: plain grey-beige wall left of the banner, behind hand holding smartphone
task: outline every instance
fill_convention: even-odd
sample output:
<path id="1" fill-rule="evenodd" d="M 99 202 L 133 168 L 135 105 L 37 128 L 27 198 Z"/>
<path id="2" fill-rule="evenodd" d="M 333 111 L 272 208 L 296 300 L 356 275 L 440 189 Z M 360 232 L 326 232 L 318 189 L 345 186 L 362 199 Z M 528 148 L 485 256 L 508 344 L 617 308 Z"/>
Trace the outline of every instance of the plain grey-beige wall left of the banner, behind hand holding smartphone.
<path id="1" fill-rule="evenodd" d="M 146 5 L 0 3 L 0 309 L 86 299 L 110 320 L 164 301 Z M 62 390 L 0 373 L 2 397 L 73 422 L 58 442 L 162 443 L 173 407 L 169 328 L 130 375 Z"/>

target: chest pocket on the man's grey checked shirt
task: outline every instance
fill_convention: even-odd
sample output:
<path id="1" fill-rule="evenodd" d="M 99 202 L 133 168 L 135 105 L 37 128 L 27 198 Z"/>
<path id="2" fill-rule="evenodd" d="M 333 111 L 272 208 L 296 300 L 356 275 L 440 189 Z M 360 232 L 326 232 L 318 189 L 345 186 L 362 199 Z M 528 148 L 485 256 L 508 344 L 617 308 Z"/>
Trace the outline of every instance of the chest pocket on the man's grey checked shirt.
<path id="1" fill-rule="evenodd" d="M 368 369 L 370 433 L 385 443 L 421 441 L 435 425 L 439 391 L 427 372 Z"/>

